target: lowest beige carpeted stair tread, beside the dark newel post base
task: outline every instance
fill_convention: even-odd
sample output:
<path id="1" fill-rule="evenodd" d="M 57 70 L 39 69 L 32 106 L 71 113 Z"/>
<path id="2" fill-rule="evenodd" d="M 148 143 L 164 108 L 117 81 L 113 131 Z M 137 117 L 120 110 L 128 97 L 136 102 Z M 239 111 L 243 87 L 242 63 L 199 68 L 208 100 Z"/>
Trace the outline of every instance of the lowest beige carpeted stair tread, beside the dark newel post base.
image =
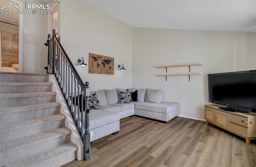
<path id="1" fill-rule="evenodd" d="M 12 161 L 6 167 L 13 167 L 13 166 L 36 166 L 40 163 L 43 163 L 47 159 L 50 159 L 52 157 L 56 157 L 58 155 L 64 154 L 66 152 L 74 152 L 77 150 L 77 146 L 73 142 L 67 142 L 62 145 L 59 145 L 57 147 L 42 151 L 40 153 L 36 153 L 33 155 L 30 155 L 28 157 L 17 159 L 15 161 Z M 40 166 L 43 166 L 43 164 L 40 164 Z"/>

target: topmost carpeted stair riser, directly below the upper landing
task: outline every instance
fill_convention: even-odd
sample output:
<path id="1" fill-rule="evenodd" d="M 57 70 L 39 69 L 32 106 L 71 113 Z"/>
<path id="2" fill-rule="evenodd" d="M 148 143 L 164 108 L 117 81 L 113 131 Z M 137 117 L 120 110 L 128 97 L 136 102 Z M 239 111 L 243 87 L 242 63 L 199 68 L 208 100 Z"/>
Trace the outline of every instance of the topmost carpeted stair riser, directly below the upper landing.
<path id="1" fill-rule="evenodd" d="M 0 73 L 0 82 L 43 83 L 49 82 L 48 75 L 28 75 L 15 73 Z"/>

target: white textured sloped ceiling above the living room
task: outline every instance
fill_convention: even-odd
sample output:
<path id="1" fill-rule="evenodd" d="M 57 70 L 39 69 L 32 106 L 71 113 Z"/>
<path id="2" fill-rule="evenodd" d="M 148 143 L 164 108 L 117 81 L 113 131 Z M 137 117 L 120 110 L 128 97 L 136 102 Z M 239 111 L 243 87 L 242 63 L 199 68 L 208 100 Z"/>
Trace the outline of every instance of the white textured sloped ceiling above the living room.
<path id="1" fill-rule="evenodd" d="M 85 0 L 132 27 L 256 32 L 256 0 Z"/>

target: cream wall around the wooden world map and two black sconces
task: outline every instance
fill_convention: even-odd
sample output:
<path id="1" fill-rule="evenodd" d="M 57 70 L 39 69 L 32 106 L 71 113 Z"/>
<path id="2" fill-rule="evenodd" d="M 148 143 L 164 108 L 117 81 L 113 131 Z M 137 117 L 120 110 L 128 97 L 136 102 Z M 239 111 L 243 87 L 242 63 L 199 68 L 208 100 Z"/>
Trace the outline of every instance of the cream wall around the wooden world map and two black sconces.
<path id="1" fill-rule="evenodd" d="M 84 1 L 60 1 L 60 41 L 91 90 L 130 88 L 132 86 L 132 28 L 86 4 Z M 89 53 L 114 57 L 114 75 L 91 74 L 78 66 Z M 126 71 L 118 70 L 124 63 Z"/>

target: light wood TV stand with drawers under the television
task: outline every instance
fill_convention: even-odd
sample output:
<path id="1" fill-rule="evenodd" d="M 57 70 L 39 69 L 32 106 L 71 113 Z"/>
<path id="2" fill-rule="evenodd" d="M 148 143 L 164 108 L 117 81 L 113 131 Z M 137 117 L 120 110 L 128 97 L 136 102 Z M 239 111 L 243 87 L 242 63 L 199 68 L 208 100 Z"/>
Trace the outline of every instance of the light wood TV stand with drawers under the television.
<path id="1" fill-rule="evenodd" d="M 219 107 L 220 105 L 204 106 L 207 125 L 211 123 L 241 136 L 246 139 L 246 144 L 250 144 L 251 139 L 256 139 L 256 113 L 228 112 Z"/>

